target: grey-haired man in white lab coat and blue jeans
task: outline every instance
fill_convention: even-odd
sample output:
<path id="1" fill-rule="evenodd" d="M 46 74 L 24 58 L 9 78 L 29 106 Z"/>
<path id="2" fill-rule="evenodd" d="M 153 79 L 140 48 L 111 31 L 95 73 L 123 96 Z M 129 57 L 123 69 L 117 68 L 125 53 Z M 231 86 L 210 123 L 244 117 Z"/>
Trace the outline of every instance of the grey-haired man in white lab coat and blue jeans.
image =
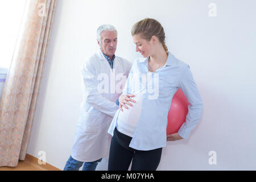
<path id="1" fill-rule="evenodd" d="M 84 98 L 75 143 L 64 171 L 78 171 L 82 164 L 83 171 L 94 171 L 98 162 L 109 156 L 112 136 L 108 129 L 118 110 L 115 101 L 122 93 L 131 63 L 115 56 L 117 30 L 112 25 L 98 27 L 97 43 L 100 51 L 86 60 L 82 68 Z"/>

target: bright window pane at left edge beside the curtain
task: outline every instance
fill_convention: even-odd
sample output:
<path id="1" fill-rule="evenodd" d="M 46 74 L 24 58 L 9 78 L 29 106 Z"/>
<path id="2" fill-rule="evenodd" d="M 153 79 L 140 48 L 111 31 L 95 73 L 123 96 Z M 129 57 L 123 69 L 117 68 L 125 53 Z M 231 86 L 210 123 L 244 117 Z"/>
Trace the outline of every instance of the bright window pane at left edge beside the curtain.
<path id="1" fill-rule="evenodd" d="M 0 0 L 0 67 L 9 68 L 26 0 Z"/>

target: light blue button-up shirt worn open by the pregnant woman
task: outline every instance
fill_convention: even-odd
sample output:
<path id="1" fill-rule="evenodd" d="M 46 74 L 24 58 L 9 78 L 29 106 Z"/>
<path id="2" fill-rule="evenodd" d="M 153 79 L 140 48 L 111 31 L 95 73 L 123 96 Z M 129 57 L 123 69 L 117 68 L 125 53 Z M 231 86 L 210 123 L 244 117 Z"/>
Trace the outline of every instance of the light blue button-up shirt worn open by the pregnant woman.
<path id="1" fill-rule="evenodd" d="M 155 73 L 148 71 L 148 57 L 134 61 L 122 94 L 136 94 L 143 90 L 147 92 L 142 92 L 141 115 L 129 147 L 144 151 L 166 147 L 168 112 L 172 97 L 179 88 L 187 97 L 190 105 L 185 122 L 177 133 L 182 138 L 188 139 L 203 111 L 203 102 L 189 65 L 176 59 L 171 52 L 169 52 L 166 64 L 157 69 Z M 108 130 L 112 136 L 119 112 L 118 109 Z"/>

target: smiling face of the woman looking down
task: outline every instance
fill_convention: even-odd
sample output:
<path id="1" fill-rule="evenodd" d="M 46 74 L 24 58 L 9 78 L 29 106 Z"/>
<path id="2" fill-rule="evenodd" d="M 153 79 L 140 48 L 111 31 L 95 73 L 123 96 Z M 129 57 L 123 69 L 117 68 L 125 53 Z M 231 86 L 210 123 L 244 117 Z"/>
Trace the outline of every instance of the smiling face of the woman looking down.
<path id="1" fill-rule="evenodd" d="M 136 45 L 136 52 L 140 52 L 143 57 L 152 55 L 152 43 L 146 39 L 142 39 L 140 35 L 133 36 L 133 42 Z"/>

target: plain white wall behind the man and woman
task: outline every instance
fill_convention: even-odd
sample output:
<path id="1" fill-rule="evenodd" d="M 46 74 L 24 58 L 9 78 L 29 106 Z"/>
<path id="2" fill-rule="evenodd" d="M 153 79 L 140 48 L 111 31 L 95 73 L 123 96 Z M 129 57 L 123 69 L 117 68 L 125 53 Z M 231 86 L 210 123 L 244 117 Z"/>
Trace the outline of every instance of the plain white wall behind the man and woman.
<path id="1" fill-rule="evenodd" d="M 216 3 L 217 16 L 208 15 Z M 118 30 L 116 55 L 138 56 L 131 27 L 143 18 L 162 23 L 168 49 L 189 64 L 204 102 L 188 140 L 168 142 L 158 170 L 256 169 L 255 6 L 251 1 L 65 0 L 57 3 L 28 154 L 63 169 L 75 137 L 82 99 L 80 69 L 98 50 L 96 29 Z M 210 165 L 209 151 L 217 164 Z M 103 160 L 98 170 L 107 170 Z"/>

